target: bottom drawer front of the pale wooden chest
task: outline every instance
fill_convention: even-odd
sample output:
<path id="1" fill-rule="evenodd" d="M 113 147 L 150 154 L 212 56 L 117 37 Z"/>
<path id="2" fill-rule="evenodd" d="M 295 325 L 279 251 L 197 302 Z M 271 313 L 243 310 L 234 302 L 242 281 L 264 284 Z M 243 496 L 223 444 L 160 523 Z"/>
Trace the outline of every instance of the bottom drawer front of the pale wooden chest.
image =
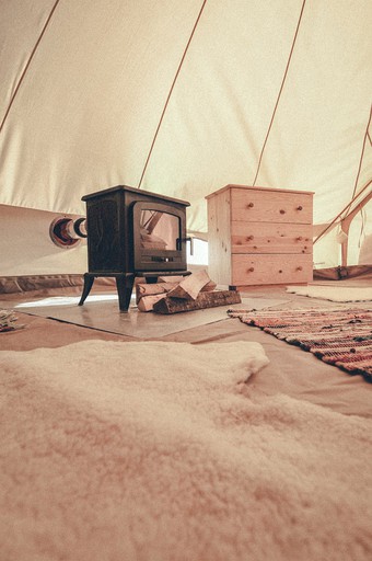
<path id="1" fill-rule="evenodd" d="M 232 285 L 277 285 L 313 279 L 311 255 L 232 255 Z"/>

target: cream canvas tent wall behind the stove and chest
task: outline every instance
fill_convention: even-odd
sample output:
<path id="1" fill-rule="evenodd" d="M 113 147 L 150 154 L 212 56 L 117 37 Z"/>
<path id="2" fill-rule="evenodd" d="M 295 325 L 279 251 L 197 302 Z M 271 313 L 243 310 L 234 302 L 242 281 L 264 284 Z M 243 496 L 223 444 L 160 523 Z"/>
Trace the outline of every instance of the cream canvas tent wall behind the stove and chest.
<path id="1" fill-rule="evenodd" d="M 84 272 L 48 225 L 117 184 L 189 201 L 201 233 L 228 183 L 314 191 L 322 231 L 371 190 L 371 23 L 370 0 L 0 0 L 0 275 Z"/>

